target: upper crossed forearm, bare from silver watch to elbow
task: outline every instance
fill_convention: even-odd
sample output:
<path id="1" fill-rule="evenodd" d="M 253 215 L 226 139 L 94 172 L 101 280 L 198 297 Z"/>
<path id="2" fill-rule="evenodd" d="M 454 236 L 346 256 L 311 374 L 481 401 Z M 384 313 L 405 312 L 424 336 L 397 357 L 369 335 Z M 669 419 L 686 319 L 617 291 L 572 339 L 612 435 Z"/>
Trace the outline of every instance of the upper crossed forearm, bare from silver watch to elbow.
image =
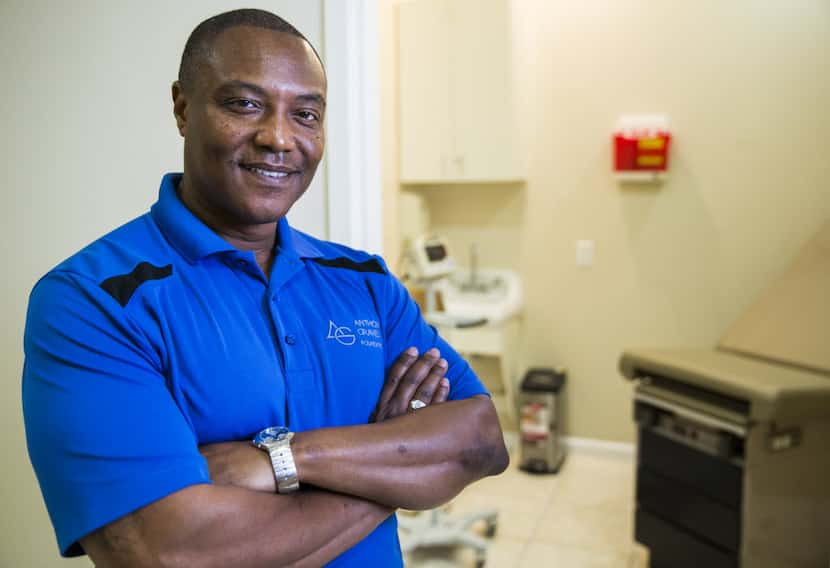
<path id="1" fill-rule="evenodd" d="M 407 509 L 445 503 L 508 462 L 484 396 L 378 424 L 300 432 L 292 448 L 301 483 Z"/>

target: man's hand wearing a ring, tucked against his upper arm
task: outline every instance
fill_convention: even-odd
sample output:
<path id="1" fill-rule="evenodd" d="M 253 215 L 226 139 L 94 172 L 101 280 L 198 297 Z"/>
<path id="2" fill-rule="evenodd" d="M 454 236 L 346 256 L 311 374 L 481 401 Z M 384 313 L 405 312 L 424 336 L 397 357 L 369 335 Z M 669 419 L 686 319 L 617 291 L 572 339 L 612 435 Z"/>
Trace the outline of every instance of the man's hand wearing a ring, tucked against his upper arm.
<path id="1" fill-rule="evenodd" d="M 419 358 L 418 350 L 410 347 L 389 369 L 371 421 L 383 422 L 405 414 L 413 400 L 427 406 L 445 402 L 450 393 L 446 372 L 447 360 L 441 358 L 438 349 L 432 348 Z"/>

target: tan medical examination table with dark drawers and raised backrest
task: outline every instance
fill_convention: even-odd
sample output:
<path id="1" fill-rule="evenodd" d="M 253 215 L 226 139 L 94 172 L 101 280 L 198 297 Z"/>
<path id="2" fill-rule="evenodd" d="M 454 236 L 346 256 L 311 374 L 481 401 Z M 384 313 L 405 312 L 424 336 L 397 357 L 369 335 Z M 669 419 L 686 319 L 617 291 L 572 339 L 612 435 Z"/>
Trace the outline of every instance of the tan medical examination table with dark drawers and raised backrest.
<path id="1" fill-rule="evenodd" d="M 830 221 L 713 349 L 630 349 L 652 568 L 830 567 Z"/>

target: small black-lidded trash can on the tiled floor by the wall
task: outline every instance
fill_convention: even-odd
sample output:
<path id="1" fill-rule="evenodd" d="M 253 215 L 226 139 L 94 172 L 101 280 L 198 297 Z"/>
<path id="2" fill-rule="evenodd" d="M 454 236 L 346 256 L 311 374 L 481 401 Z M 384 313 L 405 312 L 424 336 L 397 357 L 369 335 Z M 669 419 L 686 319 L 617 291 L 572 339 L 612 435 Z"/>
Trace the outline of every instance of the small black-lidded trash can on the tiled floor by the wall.
<path id="1" fill-rule="evenodd" d="M 556 473 L 565 460 L 561 439 L 562 368 L 529 369 L 519 393 L 519 467 L 532 473 Z"/>

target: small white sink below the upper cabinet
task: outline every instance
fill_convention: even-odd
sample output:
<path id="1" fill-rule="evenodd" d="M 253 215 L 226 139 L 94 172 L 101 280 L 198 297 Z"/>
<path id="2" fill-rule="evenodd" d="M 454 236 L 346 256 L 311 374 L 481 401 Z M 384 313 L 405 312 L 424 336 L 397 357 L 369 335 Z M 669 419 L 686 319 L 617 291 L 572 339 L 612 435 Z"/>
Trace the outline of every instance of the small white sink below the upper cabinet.
<path id="1" fill-rule="evenodd" d="M 435 287 L 441 293 L 444 317 L 455 321 L 486 319 L 494 324 L 522 309 L 521 280 L 512 270 L 480 269 L 471 278 L 470 271 L 459 269 Z"/>

